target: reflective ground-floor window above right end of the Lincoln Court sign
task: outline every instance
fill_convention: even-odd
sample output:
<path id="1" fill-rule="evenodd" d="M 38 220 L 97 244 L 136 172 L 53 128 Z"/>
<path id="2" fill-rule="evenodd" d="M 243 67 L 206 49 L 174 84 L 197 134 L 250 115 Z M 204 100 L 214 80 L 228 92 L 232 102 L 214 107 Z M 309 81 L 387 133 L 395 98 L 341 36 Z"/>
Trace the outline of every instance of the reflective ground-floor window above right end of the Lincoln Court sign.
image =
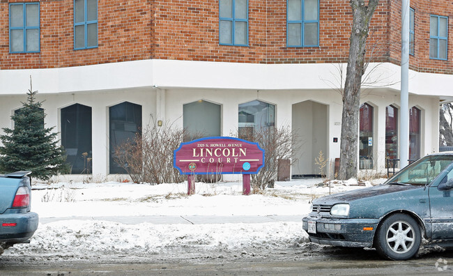
<path id="1" fill-rule="evenodd" d="M 238 135 L 240 139 L 252 139 L 254 132 L 268 130 L 275 125 L 275 105 L 254 100 L 239 105 Z"/>

